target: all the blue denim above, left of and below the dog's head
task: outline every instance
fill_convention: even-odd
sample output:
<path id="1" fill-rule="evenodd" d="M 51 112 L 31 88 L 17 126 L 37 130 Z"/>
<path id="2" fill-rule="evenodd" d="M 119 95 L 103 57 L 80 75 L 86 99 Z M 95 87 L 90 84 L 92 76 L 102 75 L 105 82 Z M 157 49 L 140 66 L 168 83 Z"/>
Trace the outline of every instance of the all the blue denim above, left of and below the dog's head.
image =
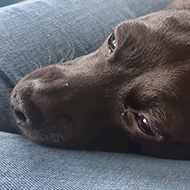
<path id="1" fill-rule="evenodd" d="M 27 73 L 94 51 L 122 20 L 158 11 L 171 1 L 29 0 L 9 6 L 0 2 L 1 190 L 190 189 L 188 160 L 32 142 L 15 127 L 9 103 L 11 90 Z"/>

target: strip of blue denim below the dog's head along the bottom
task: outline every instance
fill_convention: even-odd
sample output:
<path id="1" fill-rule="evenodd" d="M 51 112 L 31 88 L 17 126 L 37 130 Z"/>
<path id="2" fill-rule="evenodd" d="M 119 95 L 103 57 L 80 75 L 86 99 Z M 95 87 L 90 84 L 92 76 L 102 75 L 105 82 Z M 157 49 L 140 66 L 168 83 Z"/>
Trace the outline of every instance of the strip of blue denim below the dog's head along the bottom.
<path id="1" fill-rule="evenodd" d="M 43 147 L 0 133 L 2 190 L 188 190 L 190 162 Z"/>

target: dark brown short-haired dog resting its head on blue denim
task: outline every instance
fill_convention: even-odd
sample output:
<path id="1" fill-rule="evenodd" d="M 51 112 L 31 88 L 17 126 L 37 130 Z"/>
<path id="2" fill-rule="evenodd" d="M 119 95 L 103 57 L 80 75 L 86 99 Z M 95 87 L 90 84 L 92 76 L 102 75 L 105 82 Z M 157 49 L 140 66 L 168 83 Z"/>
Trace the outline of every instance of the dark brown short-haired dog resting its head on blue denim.
<path id="1" fill-rule="evenodd" d="M 190 11 L 124 21 L 95 52 L 28 74 L 10 101 L 44 145 L 190 159 Z"/>

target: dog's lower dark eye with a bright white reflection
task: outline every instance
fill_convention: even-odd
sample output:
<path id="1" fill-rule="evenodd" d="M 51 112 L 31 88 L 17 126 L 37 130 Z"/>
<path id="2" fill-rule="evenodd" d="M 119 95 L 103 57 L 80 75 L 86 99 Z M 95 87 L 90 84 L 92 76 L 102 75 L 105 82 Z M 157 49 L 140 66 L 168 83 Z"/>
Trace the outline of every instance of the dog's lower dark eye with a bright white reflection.
<path id="1" fill-rule="evenodd" d="M 137 119 L 137 123 L 139 125 L 139 128 L 141 129 L 142 132 L 144 132 L 147 135 L 153 136 L 150 124 L 148 122 L 148 120 L 146 119 L 146 117 L 144 117 L 141 114 L 138 114 L 136 116 Z"/>

